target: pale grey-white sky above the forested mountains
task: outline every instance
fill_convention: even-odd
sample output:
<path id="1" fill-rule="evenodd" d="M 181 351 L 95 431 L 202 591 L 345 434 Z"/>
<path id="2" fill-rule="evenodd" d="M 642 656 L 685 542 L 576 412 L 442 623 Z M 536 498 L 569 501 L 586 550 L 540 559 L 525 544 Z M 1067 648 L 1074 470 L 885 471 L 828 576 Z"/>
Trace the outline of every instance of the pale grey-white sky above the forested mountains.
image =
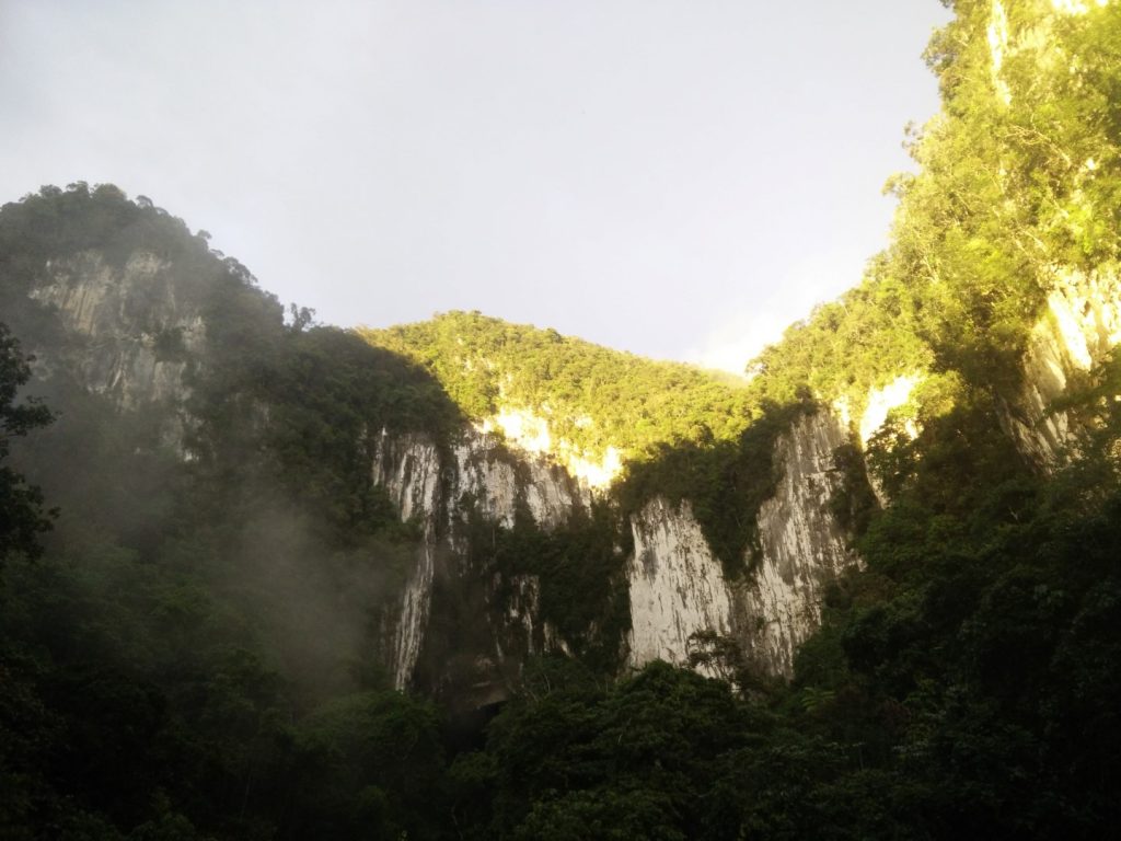
<path id="1" fill-rule="evenodd" d="M 0 0 L 0 202 L 113 183 L 322 323 L 741 371 L 888 242 L 937 0 Z"/>

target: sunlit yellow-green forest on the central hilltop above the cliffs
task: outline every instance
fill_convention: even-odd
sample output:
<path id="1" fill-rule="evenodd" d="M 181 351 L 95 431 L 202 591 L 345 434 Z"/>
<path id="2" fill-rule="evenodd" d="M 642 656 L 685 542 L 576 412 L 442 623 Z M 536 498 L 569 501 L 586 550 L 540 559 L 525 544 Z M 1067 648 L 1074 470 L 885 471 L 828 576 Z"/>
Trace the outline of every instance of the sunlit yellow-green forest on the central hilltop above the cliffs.
<path id="1" fill-rule="evenodd" d="M 360 332 L 424 364 L 466 415 L 528 408 L 546 417 L 554 437 L 594 456 L 609 446 L 640 454 L 659 444 L 734 438 L 749 418 L 743 388 L 689 366 L 479 313 Z"/>

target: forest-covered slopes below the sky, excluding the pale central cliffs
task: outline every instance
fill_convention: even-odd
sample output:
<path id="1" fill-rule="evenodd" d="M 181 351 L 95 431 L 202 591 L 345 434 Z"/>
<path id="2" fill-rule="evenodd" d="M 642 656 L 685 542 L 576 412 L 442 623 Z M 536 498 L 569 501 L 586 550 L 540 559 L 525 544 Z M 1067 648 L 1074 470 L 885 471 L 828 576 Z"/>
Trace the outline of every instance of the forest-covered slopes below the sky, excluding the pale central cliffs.
<path id="1" fill-rule="evenodd" d="M 952 7 L 889 247 L 745 382 L 479 314 L 314 326 L 109 185 L 0 209 L 0 837 L 1111 835 L 1121 4 Z M 387 673 L 437 544 L 374 475 L 390 434 L 451 453 L 507 410 L 621 458 L 553 530 L 524 497 L 507 525 L 441 511 L 487 586 L 555 576 L 535 592 L 574 640 L 465 714 Z M 750 581 L 776 442 L 826 414 L 860 564 L 822 582 L 789 681 L 715 629 L 691 648 L 715 677 L 593 645 L 627 623 L 620 524 L 687 500 Z M 452 583 L 432 638 L 466 645 L 495 609 Z"/>

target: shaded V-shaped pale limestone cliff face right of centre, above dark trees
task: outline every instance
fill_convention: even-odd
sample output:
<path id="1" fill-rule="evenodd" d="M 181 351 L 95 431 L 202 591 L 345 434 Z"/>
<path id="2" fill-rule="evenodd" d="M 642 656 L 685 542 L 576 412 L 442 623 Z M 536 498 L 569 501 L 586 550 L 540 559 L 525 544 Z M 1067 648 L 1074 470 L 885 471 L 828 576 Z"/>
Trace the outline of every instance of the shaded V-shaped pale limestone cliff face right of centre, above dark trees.
<path id="1" fill-rule="evenodd" d="M 758 515 L 754 571 L 729 582 L 687 502 L 654 500 L 632 521 L 629 566 L 631 664 L 688 660 L 697 631 L 732 636 L 771 674 L 790 674 L 798 645 L 817 627 L 824 585 L 858 558 L 830 511 L 841 487 L 833 453 L 847 442 L 821 410 L 776 444 L 781 480 Z"/>

